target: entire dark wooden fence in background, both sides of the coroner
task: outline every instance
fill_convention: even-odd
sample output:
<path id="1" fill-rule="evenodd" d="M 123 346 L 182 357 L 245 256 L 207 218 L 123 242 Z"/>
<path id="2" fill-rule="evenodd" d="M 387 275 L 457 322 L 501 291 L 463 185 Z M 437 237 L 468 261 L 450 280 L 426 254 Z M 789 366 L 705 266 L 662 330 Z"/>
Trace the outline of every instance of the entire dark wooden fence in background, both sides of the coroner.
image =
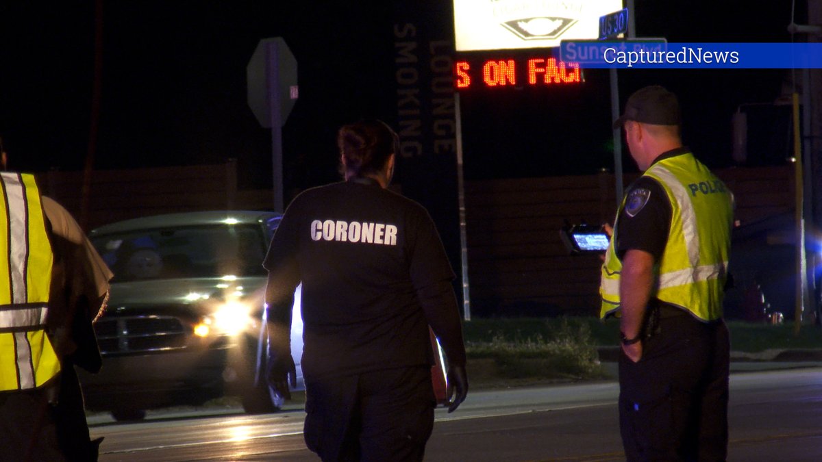
<path id="1" fill-rule="evenodd" d="M 790 166 L 723 169 L 736 219 L 746 224 L 793 210 Z M 37 174 L 40 187 L 81 216 L 81 172 Z M 625 184 L 636 175 L 626 175 Z M 236 164 L 97 171 L 88 229 L 120 219 L 181 211 L 270 209 L 268 190 L 238 191 Z M 598 256 L 570 256 L 559 230 L 569 220 L 612 222 L 614 178 L 504 179 L 465 186 L 472 311 L 488 314 L 598 312 Z"/>

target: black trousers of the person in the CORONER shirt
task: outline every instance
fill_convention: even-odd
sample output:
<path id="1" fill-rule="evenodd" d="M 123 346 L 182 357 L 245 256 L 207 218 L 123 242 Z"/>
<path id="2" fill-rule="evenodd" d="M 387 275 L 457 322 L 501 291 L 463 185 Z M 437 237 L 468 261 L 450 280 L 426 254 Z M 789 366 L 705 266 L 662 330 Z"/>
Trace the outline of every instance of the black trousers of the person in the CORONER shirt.
<path id="1" fill-rule="evenodd" d="M 427 366 L 306 377 L 306 446 L 326 462 L 423 460 L 435 404 Z"/>

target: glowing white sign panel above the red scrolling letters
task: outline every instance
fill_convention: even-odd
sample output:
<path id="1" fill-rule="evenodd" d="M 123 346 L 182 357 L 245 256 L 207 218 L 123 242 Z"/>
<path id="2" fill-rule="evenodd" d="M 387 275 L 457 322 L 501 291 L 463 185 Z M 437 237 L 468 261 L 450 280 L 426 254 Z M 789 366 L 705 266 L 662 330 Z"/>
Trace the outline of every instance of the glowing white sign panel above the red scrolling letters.
<path id="1" fill-rule="evenodd" d="M 599 16 L 622 0 L 454 0 L 457 51 L 558 47 L 596 39 Z"/>

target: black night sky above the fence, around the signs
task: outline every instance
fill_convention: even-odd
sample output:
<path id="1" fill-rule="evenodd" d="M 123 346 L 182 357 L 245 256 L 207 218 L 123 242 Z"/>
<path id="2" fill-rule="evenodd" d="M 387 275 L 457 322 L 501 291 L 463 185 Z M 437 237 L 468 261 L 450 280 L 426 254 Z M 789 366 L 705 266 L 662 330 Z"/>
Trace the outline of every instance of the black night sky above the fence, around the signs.
<path id="1" fill-rule="evenodd" d="M 94 2 L 3 2 L 0 133 L 12 167 L 79 170 L 89 150 Z M 790 2 L 637 0 L 638 36 L 669 42 L 790 41 Z M 427 2 L 415 2 L 424 8 Z M 723 8 L 719 10 L 718 8 Z M 805 2 L 797 2 L 797 22 Z M 394 122 L 394 9 L 386 1 L 104 2 L 95 169 L 238 159 L 239 185 L 270 187 L 270 132 L 246 102 L 260 39 L 282 36 L 298 60 L 300 99 L 284 127 L 287 188 L 337 177 L 335 132 L 362 117 Z M 786 71 L 621 71 L 621 99 L 660 83 L 681 95 L 684 137 L 712 166 L 730 159 L 740 104 L 773 102 Z M 466 177 L 612 168 L 607 71 L 573 89 L 462 95 Z M 778 132 L 760 144 L 781 146 Z M 754 122 L 756 123 L 756 122 Z M 763 132 L 763 131 L 756 131 Z M 767 130 L 765 130 L 767 132 Z M 770 143 L 770 144 L 769 144 Z M 778 163 L 782 150 L 751 159 Z M 765 159 L 765 157 L 768 157 Z M 626 169 L 633 164 L 626 155 Z"/>

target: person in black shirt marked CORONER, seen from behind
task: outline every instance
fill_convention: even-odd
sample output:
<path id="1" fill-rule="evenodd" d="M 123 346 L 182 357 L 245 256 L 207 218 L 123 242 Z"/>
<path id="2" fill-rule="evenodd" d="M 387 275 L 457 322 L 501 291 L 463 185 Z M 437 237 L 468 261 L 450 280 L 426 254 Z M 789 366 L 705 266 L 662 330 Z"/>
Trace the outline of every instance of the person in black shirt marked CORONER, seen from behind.
<path id="1" fill-rule="evenodd" d="M 395 132 L 367 120 L 337 141 L 345 181 L 293 200 L 264 263 L 269 381 L 289 395 L 302 281 L 307 447 L 322 460 L 422 460 L 435 406 L 428 326 L 448 360 L 449 412 L 468 392 L 454 273 L 427 211 L 386 189 Z"/>

